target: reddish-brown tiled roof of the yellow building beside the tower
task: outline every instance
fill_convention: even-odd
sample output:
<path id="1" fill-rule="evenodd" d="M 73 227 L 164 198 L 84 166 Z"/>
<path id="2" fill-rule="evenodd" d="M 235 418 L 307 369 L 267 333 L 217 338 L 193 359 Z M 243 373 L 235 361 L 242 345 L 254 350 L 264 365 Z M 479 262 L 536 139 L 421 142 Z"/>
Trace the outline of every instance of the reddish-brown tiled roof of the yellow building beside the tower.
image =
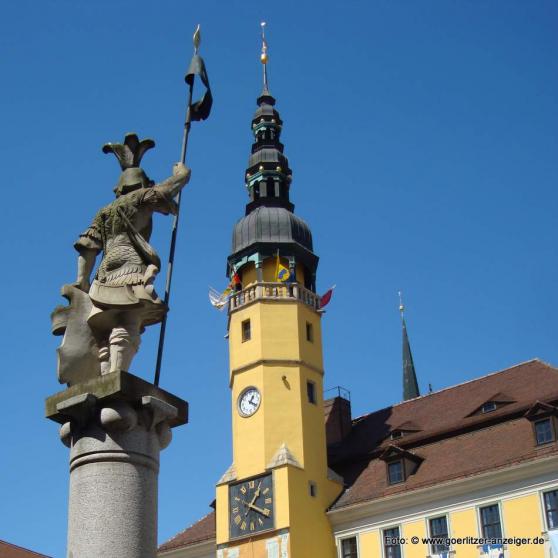
<path id="1" fill-rule="evenodd" d="M 513 402 L 470 416 L 498 393 Z M 532 360 L 355 419 L 331 455 L 330 466 L 348 485 L 333 509 L 558 453 L 556 443 L 535 445 L 532 425 L 523 417 L 538 400 L 558 400 L 558 370 Z M 392 425 L 408 420 L 421 431 L 389 440 Z M 394 443 L 423 462 L 405 482 L 389 485 L 379 456 Z"/>

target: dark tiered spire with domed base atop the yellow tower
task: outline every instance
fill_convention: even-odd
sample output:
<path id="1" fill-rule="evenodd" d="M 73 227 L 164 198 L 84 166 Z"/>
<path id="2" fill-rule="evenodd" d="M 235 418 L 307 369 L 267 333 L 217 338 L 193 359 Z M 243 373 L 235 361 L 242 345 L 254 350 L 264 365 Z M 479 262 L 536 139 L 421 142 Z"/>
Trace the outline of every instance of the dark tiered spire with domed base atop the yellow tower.
<path id="1" fill-rule="evenodd" d="M 249 199 L 245 216 L 234 226 L 227 275 L 231 270 L 239 271 L 242 279 L 242 268 L 250 262 L 256 267 L 258 281 L 276 281 L 273 270 L 279 255 L 281 265 L 289 268 L 289 278 L 296 277 L 305 288 L 315 291 L 318 256 L 313 252 L 310 227 L 294 214 L 290 200 L 293 173 L 281 143 L 283 121 L 269 91 L 266 24 L 262 21 L 260 25 L 263 90 L 251 122 L 254 139 L 244 174 Z M 266 266 L 271 271 L 266 271 Z"/>

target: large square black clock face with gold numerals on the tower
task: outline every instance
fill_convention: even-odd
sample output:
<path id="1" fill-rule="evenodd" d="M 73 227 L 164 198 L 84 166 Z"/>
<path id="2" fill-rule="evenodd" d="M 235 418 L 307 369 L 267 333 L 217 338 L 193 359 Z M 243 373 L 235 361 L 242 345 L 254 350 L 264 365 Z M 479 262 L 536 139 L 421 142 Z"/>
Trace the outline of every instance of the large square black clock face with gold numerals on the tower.
<path id="1" fill-rule="evenodd" d="M 271 475 L 229 487 L 229 525 L 232 538 L 273 529 L 273 482 Z"/>

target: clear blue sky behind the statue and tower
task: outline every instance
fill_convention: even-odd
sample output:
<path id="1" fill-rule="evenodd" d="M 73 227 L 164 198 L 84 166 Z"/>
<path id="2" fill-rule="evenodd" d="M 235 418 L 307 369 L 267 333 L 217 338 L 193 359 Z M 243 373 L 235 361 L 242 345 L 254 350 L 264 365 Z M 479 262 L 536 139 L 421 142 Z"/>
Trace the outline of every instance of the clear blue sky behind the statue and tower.
<path id="1" fill-rule="evenodd" d="M 319 290 L 337 284 L 326 386 L 351 391 L 355 416 L 400 400 L 400 289 L 423 391 L 558 363 L 556 2 L 19 0 L 2 12 L 0 538 L 64 556 L 68 452 L 43 418 L 60 389 L 49 314 L 74 280 L 76 235 L 112 199 L 118 166 L 102 144 L 153 137 L 144 168 L 157 180 L 178 159 L 197 23 L 215 104 L 188 154 L 161 385 L 189 400 L 191 423 L 162 454 L 161 542 L 207 512 L 231 459 L 226 319 L 207 289 L 226 284 L 246 203 L 262 19 L 291 197 Z M 170 220 L 155 226 L 165 256 Z M 134 364 L 145 378 L 156 334 Z"/>

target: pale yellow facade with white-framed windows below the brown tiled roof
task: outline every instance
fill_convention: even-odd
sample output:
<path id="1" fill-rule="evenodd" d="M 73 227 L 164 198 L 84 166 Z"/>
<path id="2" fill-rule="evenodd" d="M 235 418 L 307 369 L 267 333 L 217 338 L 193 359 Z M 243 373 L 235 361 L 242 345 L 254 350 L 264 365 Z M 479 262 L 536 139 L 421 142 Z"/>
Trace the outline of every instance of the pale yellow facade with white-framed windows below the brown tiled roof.
<path id="1" fill-rule="evenodd" d="M 537 464 L 405 494 L 398 501 L 370 502 L 360 509 L 330 513 L 338 555 L 346 556 L 343 543 L 354 540 L 359 557 L 444 556 L 427 542 L 432 537 L 430 520 L 443 517 L 450 539 L 448 556 L 491 556 L 490 548 L 480 540 L 485 536 L 481 510 L 496 507 L 504 541 L 501 549 L 500 544 L 493 545 L 493 556 L 551 558 L 549 531 L 553 525 L 547 518 L 546 500 L 558 491 L 557 469 L 558 457 L 551 457 Z M 397 552 L 390 554 L 385 540 L 393 529 L 402 540 L 395 545 Z"/>

